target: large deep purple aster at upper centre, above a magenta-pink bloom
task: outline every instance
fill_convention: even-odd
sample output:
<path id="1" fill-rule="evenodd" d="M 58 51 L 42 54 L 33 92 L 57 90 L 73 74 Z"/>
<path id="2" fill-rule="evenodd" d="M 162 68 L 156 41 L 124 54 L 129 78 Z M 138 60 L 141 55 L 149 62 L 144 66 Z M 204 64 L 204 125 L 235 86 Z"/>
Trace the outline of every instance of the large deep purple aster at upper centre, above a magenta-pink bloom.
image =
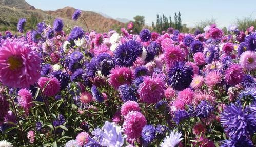
<path id="1" fill-rule="evenodd" d="M 142 53 L 142 46 L 139 42 L 130 40 L 119 45 L 114 52 L 114 59 L 117 65 L 132 66 L 133 62 Z"/>

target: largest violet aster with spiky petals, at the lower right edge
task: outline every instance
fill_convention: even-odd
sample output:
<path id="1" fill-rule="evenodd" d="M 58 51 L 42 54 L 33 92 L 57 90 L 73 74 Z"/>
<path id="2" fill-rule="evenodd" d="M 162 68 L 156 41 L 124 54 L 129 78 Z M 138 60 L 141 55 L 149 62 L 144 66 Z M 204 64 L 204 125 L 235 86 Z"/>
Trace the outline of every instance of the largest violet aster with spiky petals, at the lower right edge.
<path id="1" fill-rule="evenodd" d="M 250 138 L 256 131 L 256 117 L 248 113 L 248 107 L 231 104 L 221 115 L 224 131 L 232 140 Z"/>

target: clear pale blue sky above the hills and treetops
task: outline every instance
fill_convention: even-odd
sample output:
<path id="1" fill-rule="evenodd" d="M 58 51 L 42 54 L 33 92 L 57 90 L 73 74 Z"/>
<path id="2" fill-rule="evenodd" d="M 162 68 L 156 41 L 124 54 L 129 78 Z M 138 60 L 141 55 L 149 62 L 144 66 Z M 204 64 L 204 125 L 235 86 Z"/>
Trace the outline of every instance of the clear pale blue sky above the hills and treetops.
<path id="1" fill-rule="evenodd" d="M 215 18 L 221 27 L 229 26 L 237 18 L 256 19 L 256 0 L 26 0 L 30 5 L 42 10 L 56 10 L 66 6 L 76 9 L 102 12 L 112 18 L 132 20 L 136 15 L 145 16 L 151 24 L 156 14 L 174 16 L 182 13 L 182 23 L 194 26 L 201 20 Z M 173 17 L 172 17 L 173 18 Z"/>

